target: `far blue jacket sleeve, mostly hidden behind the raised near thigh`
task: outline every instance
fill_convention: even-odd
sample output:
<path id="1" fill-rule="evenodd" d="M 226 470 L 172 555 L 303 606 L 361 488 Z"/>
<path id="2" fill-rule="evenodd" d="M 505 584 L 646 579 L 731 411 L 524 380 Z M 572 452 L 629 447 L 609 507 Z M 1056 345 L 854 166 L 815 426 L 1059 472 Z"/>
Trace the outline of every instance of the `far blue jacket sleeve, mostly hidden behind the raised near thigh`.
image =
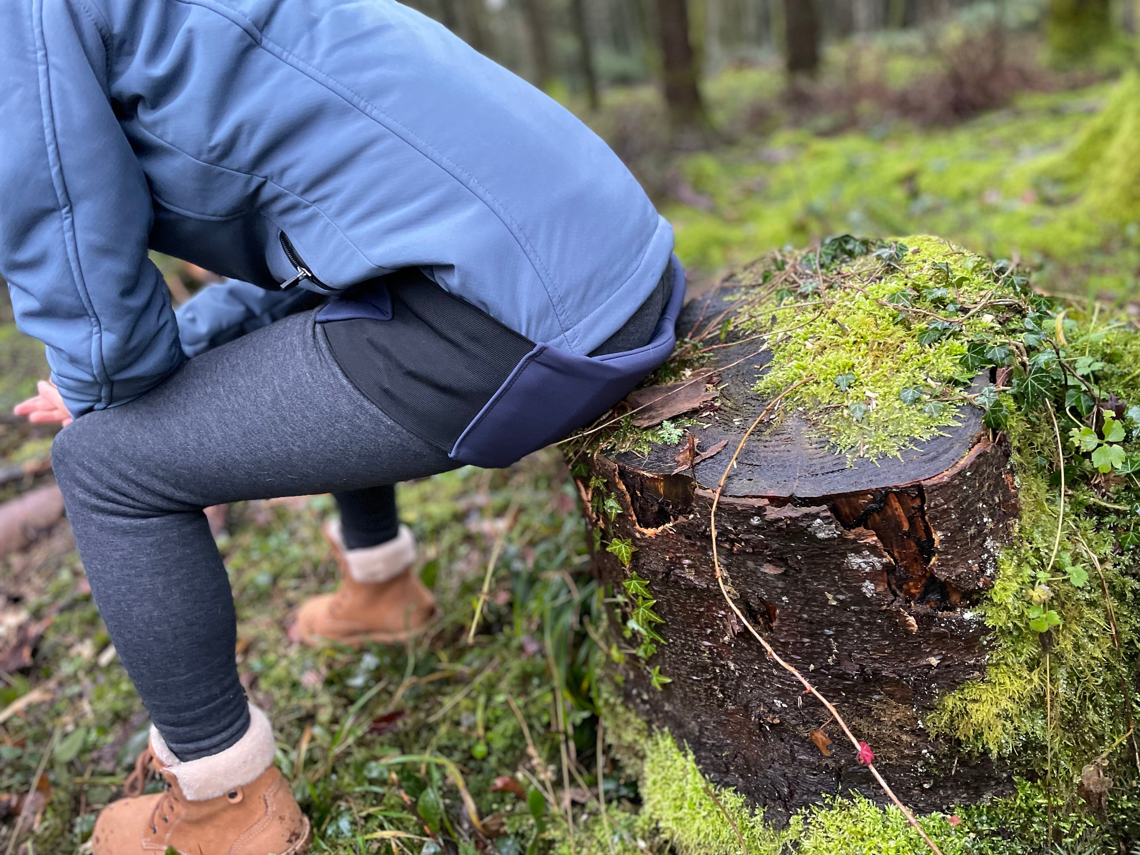
<path id="1" fill-rule="evenodd" d="M 174 312 L 182 351 L 195 357 L 324 300 L 304 288 L 266 291 L 237 279 L 207 285 Z"/>

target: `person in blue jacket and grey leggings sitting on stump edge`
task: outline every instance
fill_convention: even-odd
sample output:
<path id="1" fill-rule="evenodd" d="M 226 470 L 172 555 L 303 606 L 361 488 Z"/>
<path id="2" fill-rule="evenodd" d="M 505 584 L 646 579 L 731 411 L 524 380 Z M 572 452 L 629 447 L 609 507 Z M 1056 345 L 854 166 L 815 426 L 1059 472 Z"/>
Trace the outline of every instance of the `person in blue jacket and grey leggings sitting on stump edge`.
<path id="1" fill-rule="evenodd" d="M 56 478 L 150 715 L 137 772 L 168 783 L 92 852 L 301 853 L 203 508 L 386 514 L 331 532 L 341 589 L 298 627 L 416 632 L 391 484 L 510 465 L 660 365 L 671 229 L 568 111 L 392 0 L 2 3 L 0 88 L 0 274 L 51 370 L 19 412 L 66 423 Z M 176 318 L 148 250 L 231 282 Z"/>

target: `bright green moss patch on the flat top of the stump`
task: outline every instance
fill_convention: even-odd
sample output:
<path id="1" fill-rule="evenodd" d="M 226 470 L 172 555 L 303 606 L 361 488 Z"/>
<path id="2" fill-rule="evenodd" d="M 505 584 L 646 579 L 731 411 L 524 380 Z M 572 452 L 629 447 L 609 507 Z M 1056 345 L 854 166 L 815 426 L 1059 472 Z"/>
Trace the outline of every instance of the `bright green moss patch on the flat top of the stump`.
<path id="1" fill-rule="evenodd" d="M 746 291 L 735 323 L 772 342 L 772 363 L 756 391 L 771 399 L 811 377 L 788 406 L 849 456 L 897 455 L 959 424 L 950 405 L 964 400 L 961 389 L 974 378 L 962 367 L 967 343 L 995 336 L 1000 326 L 991 311 L 967 307 L 1012 294 L 994 283 L 991 262 L 928 236 L 830 268 L 821 262 L 816 269 L 815 261 L 809 251 L 751 271 L 762 296 L 751 306 Z M 922 299 L 935 311 L 907 314 Z"/>

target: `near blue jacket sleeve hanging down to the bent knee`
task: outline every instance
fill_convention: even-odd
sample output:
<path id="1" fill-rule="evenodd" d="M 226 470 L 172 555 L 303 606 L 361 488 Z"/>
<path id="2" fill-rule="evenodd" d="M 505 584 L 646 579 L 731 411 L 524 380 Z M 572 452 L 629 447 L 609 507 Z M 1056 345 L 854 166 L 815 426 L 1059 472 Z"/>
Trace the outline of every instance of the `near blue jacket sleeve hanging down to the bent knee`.
<path id="1" fill-rule="evenodd" d="M 112 106 L 111 43 L 83 0 L 0 3 L 0 272 L 74 416 L 185 360 L 147 258 L 150 193 Z"/>

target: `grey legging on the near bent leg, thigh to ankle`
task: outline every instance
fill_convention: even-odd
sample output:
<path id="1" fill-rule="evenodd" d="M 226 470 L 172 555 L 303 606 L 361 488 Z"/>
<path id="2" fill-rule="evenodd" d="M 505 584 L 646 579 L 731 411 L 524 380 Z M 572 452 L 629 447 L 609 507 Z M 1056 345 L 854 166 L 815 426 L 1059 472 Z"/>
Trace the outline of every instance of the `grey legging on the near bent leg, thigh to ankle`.
<path id="1" fill-rule="evenodd" d="M 202 508 L 456 466 L 348 382 L 314 314 L 192 359 L 138 400 L 78 418 L 52 448 L 95 601 L 182 760 L 249 726 L 233 595 Z"/>

